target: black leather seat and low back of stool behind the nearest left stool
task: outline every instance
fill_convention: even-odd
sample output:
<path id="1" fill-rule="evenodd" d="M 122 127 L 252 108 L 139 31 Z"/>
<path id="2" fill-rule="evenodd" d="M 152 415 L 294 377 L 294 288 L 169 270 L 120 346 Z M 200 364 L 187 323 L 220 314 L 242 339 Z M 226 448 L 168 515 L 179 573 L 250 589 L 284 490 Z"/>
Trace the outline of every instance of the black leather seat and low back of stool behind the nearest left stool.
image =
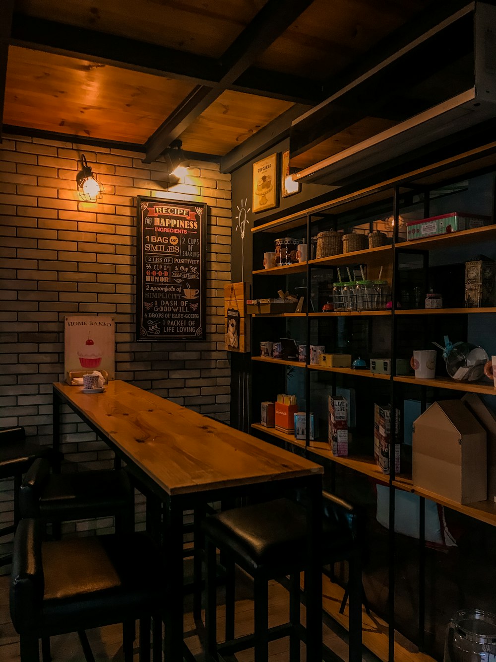
<path id="1" fill-rule="evenodd" d="M 102 517 L 132 510 L 134 492 L 123 469 L 50 474 L 50 465 L 36 459 L 22 481 L 22 517 L 49 522 Z"/>

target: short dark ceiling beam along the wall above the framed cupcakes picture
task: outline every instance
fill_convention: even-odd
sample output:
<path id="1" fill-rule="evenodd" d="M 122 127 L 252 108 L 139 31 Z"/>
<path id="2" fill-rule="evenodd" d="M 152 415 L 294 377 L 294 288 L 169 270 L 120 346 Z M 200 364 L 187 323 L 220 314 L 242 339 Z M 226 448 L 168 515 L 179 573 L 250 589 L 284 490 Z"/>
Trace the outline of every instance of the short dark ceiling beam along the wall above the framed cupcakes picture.
<path id="1" fill-rule="evenodd" d="M 276 117 L 270 124 L 257 131 L 254 136 L 251 136 L 241 145 L 228 152 L 226 156 L 223 156 L 220 161 L 220 171 L 224 173 L 232 172 L 244 166 L 265 150 L 270 150 L 281 140 L 288 138 L 291 122 L 308 111 L 309 108 L 310 106 L 307 105 L 295 104 L 286 113 Z"/>

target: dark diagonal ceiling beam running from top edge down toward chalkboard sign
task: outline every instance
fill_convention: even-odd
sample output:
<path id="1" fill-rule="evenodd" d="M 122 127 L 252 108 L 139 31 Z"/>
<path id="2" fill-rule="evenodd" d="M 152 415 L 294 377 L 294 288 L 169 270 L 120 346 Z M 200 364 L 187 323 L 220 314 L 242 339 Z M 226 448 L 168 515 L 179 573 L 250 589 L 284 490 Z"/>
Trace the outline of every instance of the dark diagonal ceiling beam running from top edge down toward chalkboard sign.
<path id="1" fill-rule="evenodd" d="M 268 0 L 253 21 L 235 38 L 220 58 L 223 75 L 215 88 L 196 89 L 146 142 L 145 163 L 155 161 L 165 149 L 244 73 L 260 54 L 311 5 L 313 0 Z M 197 101 L 194 106 L 194 101 Z"/>

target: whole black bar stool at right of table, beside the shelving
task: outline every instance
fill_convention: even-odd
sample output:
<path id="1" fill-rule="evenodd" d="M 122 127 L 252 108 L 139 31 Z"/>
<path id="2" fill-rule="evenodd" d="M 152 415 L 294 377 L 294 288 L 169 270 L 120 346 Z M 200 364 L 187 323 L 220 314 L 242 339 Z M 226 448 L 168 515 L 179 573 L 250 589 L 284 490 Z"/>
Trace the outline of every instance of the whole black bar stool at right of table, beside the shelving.
<path id="1" fill-rule="evenodd" d="M 349 563 L 349 659 L 362 659 L 362 581 L 360 544 L 356 536 L 356 509 L 329 493 L 324 496 L 322 564 Z M 300 573 L 305 566 L 306 509 L 288 498 L 226 510 L 204 520 L 206 538 L 206 636 L 212 659 L 218 653 L 233 654 L 255 647 L 255 662 L 267 662 L 269 641 L 290 636 L 290 662 L 300 660 Z M 226 642 L 216 636 L 216 549 L 228 559 L 226 564 Z M 234 565 L 253 577 L 255 632 L 235 639 Z M 284 575 L 290 577 L 290 620 L 276 628 L 268 626 L 268 583 Z M 326 647 L 325 658 L 332 654 Z M 335 656 L 334 656 L 335 657 Z"/>

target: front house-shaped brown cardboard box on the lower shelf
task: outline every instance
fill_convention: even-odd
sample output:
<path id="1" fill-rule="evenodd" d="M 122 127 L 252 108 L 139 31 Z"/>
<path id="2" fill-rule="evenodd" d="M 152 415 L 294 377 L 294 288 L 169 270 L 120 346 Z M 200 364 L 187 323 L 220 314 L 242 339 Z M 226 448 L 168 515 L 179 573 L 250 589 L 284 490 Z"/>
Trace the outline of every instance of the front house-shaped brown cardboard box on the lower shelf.
<path id="1" fill-rule="evenodd" d="M 413 424 L 413 485 L 459 504 L 487 498 L 486 433 L 460 400 L 433 402 Z"/>

